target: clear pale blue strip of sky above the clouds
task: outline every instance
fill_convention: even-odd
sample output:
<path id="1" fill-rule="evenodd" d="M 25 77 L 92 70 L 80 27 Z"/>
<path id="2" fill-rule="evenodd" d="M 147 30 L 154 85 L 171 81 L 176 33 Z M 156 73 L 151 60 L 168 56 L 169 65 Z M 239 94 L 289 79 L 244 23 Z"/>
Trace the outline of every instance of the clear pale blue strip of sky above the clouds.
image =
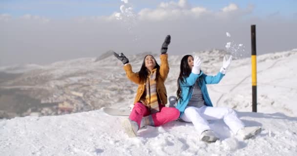
<path id="1" fill-rule="evenodd" d="M 171 0 L 128 0 L 135 6 L 135 11 L 143 8 L 155 8 L 161 2 Z M 177 1 L 177 0 L 174 0 Z M 296 0 L 188 0 L 191 5 L 219 10 L 230 3 L 239 7 L 255 5 L 254 14 L 265 16 L 281 14 L 292 17 L 297 13 Z M 68 18 L 77 16 L 108 16 L 118 10 L 121 0 L 1 0 L 0 12 L 12 16 L 24 14 L 46 16 L 49 18 Z M 84 6 L 84 7 L 82 7 Z"/>

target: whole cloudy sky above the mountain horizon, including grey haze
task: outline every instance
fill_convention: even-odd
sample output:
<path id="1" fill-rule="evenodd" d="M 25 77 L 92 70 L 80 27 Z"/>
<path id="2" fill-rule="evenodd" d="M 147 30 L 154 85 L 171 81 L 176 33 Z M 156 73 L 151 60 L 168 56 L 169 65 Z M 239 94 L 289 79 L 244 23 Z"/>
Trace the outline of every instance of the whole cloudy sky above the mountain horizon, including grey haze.
<path id="1" fill-rule="evenodd" d="M 297 47 L 296 6 L 296 0 L 1 0 L 0 66 L 108 50 L 158 53 L 168 34 L 172 55 L 232 42 L 249 56 L 251 24 L 258 54 L 290 50 Z"/>

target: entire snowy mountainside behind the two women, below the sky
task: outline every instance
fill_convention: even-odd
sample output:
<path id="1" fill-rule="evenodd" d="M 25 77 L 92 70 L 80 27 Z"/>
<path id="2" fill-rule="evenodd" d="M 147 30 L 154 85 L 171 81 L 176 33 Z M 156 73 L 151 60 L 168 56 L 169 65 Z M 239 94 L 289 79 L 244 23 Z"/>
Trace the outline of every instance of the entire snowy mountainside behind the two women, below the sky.
<path id="1" fill-rule="evenodd" d="M 295 49 L 257 57 L 259 112 L 296 116 L 294 103 L 290 102 L 297 101 L 296 53 Z M 127 56 L 135 72 L 139 71 L 145 54 L 149 53 Z M 160 62 L 159 54 L 152 55 Z M 226 52 L 210 50 L 192 55 L 202 58 L 205 73 L 214 75 Z M 170 73 L 165 83 L 168 96 L 175 95 L 182 57 L 171 56 L 169 52 Z M 137 85 L 126 78 L 122 63 L 112 51 L 98 58 L 73 59 L 46 66 L 0 67 L 0 118 L 61 115 L 104 106 L 127 108 L 133 102 L 136 88 Z M 226 77 L 208 88 L 214 105 L 250 111 L 251 59 L 233 60 Z"/>

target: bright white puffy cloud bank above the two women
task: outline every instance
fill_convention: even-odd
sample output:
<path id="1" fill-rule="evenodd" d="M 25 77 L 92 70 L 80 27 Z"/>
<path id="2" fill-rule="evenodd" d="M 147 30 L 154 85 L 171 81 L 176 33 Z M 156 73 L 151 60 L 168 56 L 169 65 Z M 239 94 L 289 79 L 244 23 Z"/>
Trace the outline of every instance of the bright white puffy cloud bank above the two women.
<path id="1" fill-rule="evenodd" d="M 134 20 L 178 20 L 178 19 L 192 19 L 197 20 L 200 17 L 209 17 L 224 19 L 234 17 L 242 17 L 250 14 L 254 10 L 253 6 L 248 6 L 245 9 L 240 9 L 236 4 L 231 3 L 220 10 L 212 11 L 203 6 L 191 6 L 188 0 L 161 2 L 156 8 L 143 8 L 138 13 L 133 12 L 132 7 L 126 4 L 121 5 L 119 11 L 115 12 L 109 17 L 104 17 L 106 20 L 123 20 L 125 17 L 132 15 Z M 234 13 L 235 12 L 235 13 Z M 131 14 L 132 13 L 132 14 Z"/>

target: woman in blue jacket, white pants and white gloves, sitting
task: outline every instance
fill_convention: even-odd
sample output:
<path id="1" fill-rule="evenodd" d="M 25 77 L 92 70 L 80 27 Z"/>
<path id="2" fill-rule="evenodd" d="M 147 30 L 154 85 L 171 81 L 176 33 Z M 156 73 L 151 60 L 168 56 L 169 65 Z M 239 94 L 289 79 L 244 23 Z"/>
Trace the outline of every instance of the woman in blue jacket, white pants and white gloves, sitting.
<path id="1" fill-rule="evenodd" d="M 198 57 L 193 59 L 191 55 L 186 55 L 181 60 L 176 108 L 182 120 L 193 123 L 202 141 L 215 142 L 219 139 L 207 121 L 213 119 L 224 119 L 231 131 L 243 139 L 261 132 L 261 127 L 245 127 L 233 109 L 212 107 L 206 84 L 218 83 L 225 76 L 231 60 L 232 56 L 228 60 L 224 57 L 223 66 L 216 76 L 205 75 L 200 70 L 201 60 Z"/>

